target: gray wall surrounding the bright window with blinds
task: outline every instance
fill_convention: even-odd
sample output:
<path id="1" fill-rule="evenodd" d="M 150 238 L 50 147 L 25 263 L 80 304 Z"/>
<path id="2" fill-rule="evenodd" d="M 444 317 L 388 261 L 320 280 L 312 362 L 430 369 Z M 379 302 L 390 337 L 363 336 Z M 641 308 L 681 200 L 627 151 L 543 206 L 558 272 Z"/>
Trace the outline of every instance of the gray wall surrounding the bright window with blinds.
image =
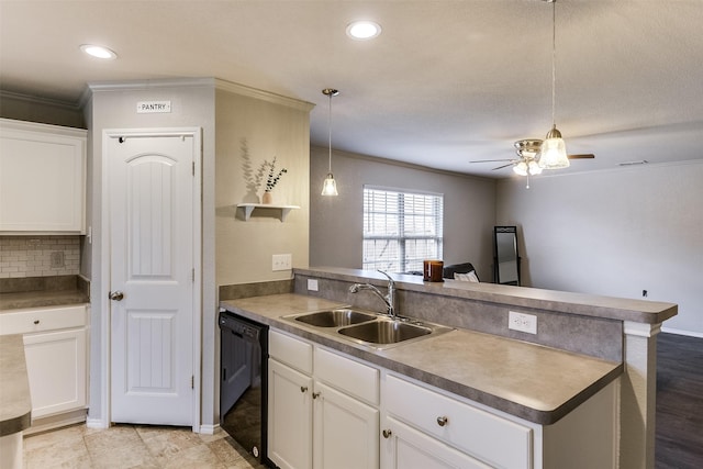
<path id="1" fill-rule="evenodd" d="M 443 193 L 444 261 L 473 264 L 481 280 L 492 278 L 495 181 L 333 152 L 338 197 L 322 197 L 326 147 L 311 147 L 310 265 L 361 268 L 364 186 Z"/>

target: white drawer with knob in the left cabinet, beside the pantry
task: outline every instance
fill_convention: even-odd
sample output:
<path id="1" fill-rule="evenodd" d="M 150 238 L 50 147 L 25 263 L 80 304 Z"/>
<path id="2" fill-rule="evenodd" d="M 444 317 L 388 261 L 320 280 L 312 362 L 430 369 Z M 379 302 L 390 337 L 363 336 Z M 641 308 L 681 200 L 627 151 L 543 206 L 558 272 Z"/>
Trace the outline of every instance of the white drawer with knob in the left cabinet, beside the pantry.
<path id="1" fill-rule="evenodd" d="M 86 306 L 15 310 L 0 313 L 0 334 L 26 334 L 87 324 Z"/>

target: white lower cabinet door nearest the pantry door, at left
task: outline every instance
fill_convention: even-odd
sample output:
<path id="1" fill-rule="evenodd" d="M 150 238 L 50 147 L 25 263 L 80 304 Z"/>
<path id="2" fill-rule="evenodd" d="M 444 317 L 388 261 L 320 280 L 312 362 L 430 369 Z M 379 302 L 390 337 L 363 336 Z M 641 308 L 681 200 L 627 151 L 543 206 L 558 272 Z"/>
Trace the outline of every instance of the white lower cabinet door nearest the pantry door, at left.
<path id="1" fill-rule="evenodd" d="M 32 418 L 86 406 L 86 330 L 25 334 Z"/>

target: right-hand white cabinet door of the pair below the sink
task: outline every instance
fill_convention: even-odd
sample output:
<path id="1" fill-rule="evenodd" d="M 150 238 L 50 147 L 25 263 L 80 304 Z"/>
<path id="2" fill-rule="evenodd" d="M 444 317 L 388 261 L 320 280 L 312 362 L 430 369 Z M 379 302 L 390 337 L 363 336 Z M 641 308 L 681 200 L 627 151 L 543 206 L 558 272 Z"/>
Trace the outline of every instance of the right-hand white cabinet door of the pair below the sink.
<path id="1" fill-rule="evenodd" d="M 315 381 L 313 467 L 379 467 L 379 411 Z"/>

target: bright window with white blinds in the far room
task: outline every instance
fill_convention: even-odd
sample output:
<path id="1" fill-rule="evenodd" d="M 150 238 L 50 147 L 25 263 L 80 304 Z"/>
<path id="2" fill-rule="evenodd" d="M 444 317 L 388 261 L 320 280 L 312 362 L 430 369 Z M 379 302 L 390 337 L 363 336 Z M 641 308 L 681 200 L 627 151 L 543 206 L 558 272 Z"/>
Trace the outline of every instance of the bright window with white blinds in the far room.
<path id="1" fill-rule="evenodd" d="M 364 269 L 422 271 L 442 259 L 444 196 L 364 188 Z"/>

